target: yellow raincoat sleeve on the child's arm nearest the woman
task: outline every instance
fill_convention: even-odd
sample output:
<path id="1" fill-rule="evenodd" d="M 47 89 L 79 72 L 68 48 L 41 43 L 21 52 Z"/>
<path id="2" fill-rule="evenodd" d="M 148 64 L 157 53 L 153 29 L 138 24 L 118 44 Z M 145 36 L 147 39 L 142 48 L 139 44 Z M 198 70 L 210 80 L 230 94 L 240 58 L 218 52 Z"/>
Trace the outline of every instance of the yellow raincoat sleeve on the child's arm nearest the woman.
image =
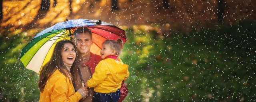
<path id="1" fill-rule="evenodd" d="M 108 71 L 107 64 L 103 60 L 100 61 L 95 68 L 92 78 L 87 81 L 87 86 L 90 88 L 97 86 L 107 77 L 108 73 L 110 72 Z"/>

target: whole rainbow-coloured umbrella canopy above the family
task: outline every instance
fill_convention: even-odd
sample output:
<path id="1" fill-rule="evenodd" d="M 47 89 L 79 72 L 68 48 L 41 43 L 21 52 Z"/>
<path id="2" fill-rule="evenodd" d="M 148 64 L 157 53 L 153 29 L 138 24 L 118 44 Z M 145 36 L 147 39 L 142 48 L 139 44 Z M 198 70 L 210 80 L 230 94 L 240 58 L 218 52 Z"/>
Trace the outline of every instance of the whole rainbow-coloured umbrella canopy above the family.
<path id="1" fill-rule="evenodd" d="M 95 54 L 100 53 L 102 43 L 107 39 L 122 39 L 124 43 L 127 40 L 125 31 L 112 24 L 100 20 L 68 20 L 38 33 L 22 49 L 20 61 L 26 69 L 39 73 L 41 67 L 50 61 L 56 43 L 60 40 L 72 39 L 73 32 L 78 27 L 88 27 L 92 31 L 94 44 L 91 46 L 91 52 Z"/>

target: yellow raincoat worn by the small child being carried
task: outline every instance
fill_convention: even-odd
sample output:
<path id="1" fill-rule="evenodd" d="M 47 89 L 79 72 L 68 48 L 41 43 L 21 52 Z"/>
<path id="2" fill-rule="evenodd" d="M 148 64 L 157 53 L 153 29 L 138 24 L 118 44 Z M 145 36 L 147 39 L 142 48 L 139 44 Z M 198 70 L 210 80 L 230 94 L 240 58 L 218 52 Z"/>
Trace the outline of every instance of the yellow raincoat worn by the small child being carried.
<path id="1" fill-rule="evenodd" d="M 98 63 L 92 78 L 87 81 L 88 87 L 94 87 L 95 92 L 112 93 L 121 87 L 123 80 L 129 77 L 128 65 L 120 59 L 104 59 Z"/>

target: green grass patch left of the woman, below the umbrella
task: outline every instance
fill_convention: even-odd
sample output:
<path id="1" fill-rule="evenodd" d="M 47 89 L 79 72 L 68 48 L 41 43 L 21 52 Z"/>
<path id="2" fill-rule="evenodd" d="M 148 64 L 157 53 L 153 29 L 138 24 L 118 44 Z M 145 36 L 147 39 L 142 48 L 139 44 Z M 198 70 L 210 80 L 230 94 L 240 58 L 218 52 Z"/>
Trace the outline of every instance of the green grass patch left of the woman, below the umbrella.
<path id="1" fill-rule="evenodd" d="M 39 100 L 38 75 L 24 69 L 18 60 L 20 51 L 30 39 L 21 33 L 7 39 L 1 38 L 0 45 L 0 101 L 28 102 Z"/>

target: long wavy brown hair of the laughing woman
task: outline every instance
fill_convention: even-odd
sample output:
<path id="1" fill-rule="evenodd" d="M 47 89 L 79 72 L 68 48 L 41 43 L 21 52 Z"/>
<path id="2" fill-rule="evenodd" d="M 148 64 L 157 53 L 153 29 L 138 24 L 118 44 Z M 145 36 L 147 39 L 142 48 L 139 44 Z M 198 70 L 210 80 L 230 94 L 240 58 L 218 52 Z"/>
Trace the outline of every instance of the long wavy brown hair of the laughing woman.
<path id="1" fill-rule="evenodd" d="M 68 77 L 68 73 L 67 73 L 66 67 L 64 67 L 64 62 L 61 56 L 61 51 L 63 50 L 65 43 L 71 43 L 75 47 L 74 43 L 70 40 L 62 40 L 56 43 L 56 46 L 54 48 L 50 61 L 46 63 L 46 65 L 42 67 L 42 71 L 40 71 L 39 82 L 38 82 L 38 87 L 40 89 L 40 92 L 44 91 L 44 87 L 46 85 L 48 78 L 51 77 L 51 75 L 54 73 L 56 69 L 58 69 L 60 73 Z M 76 54 L 76 59 L 71 69 L 76 69 L 76 67 L 78 67 L 77 58 L 78 58 L 78 54 Z"/>

